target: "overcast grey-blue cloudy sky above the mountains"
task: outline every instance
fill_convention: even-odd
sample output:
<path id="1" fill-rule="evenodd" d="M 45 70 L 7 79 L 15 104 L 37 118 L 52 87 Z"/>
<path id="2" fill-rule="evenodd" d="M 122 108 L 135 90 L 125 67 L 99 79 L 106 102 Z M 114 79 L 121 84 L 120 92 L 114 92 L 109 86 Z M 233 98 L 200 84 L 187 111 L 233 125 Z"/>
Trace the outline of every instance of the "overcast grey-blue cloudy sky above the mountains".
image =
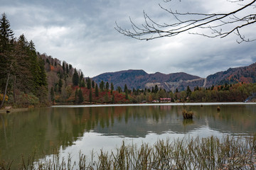
<path id="1" fill-rule="evenodd" d="M 115 22 L 131 28 L 129 17 L 142 24 L 143 11 L 155 21 L 171 23 L 159 4 L 181 12 L 205 13 L 239 7 L 226 0 L 0 0 L 0 4 L 0 12 L 6 13 L 16 37 L 23 33 L 33 40 L 38 52 L 72 64 L 86 77 L 125 69 L 206 77 L 256 62 L 256 41 L 238 44 L 235 34 L 206 38 L 183 33 L 141 41 L 114 30 Z M 255 8 L 250 10 L 255 13 Z M 245 29 L 245 34 L 255 35 L 255 25 Z"/>

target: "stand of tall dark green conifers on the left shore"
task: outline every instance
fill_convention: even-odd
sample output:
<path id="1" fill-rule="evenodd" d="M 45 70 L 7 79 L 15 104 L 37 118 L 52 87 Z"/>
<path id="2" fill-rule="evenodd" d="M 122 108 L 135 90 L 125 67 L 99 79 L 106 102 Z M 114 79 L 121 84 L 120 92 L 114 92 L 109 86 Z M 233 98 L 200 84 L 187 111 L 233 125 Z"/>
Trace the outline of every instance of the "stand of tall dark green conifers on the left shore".
<path id="1" fill-rule="evenodd" d="M 0 56 L 1 107 L 4 101 L 18 106 L 46 104 L 48 91 L 44 62 L 32 40 L 26 40 L 23 34 L 14 38 L 5 13 L 0 21 Z"/>

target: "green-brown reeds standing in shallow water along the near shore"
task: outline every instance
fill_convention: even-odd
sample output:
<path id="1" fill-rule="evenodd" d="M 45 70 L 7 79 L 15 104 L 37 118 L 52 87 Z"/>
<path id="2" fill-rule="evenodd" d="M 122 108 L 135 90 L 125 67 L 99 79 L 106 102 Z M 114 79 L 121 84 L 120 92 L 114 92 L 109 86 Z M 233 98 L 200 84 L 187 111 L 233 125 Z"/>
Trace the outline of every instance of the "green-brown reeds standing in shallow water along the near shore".
<path id="1" fill-rule="evenodd" d="M 252 137 L 208 137 L 189 140 L 159 140 L 154 145 L 125 145 L 112 152 L 80 154 L 79 160 L 35 157 L 21 162 L 19 169 L 256 169 L 256 135 Z M 24 159 L 22 159 L 24 160 Z M 11 163 L 1 161 L 0 169 Z"/>

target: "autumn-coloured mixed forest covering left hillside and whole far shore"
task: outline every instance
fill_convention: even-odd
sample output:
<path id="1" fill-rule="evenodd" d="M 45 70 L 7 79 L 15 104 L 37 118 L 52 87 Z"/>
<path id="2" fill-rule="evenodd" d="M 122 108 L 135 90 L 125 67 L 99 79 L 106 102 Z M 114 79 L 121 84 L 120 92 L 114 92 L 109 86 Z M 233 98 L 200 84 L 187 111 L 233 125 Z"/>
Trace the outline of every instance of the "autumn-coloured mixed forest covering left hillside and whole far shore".
<path id="1" fill-rule="evenodd" d="M 0 103 L 3 106 L 38 107 L 52 104 L 234 102 L 255 101 L 256 84 L 236 82 L 184 91 L 128 89 L 108 81 L 95 83 L 67 62 L 40 54 L 25 35 L 14 38 L 6 14 L 0 21 Z"/>

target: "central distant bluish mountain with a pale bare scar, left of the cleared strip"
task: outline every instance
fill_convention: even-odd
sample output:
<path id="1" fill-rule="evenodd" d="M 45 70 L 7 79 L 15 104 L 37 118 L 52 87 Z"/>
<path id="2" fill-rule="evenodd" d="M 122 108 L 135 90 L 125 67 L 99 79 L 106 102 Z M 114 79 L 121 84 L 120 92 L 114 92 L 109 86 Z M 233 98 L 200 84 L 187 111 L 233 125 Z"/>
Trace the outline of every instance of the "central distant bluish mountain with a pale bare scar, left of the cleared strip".
<path id="1" fill-rule="evenodd" d="M 114 84 L 114 88 L 120 86 L 124 88 L 124 84 L 127 84 L 128 89 L 151 89 L 154 86 L 159 88 L 175 91 L 176 88 L 183 90 L 187 86 L 203 86 L 204 79 L 201 77 L 186 74 L 184 72 L 163 74 L 156 72 L 154 74 L 148 74 L 144 70 L 124 70 L 120 72 L 108 72 L 100 74 L 97 77 L 92 78 L 97 84 L 100 81 L 108 81 Z"/>

